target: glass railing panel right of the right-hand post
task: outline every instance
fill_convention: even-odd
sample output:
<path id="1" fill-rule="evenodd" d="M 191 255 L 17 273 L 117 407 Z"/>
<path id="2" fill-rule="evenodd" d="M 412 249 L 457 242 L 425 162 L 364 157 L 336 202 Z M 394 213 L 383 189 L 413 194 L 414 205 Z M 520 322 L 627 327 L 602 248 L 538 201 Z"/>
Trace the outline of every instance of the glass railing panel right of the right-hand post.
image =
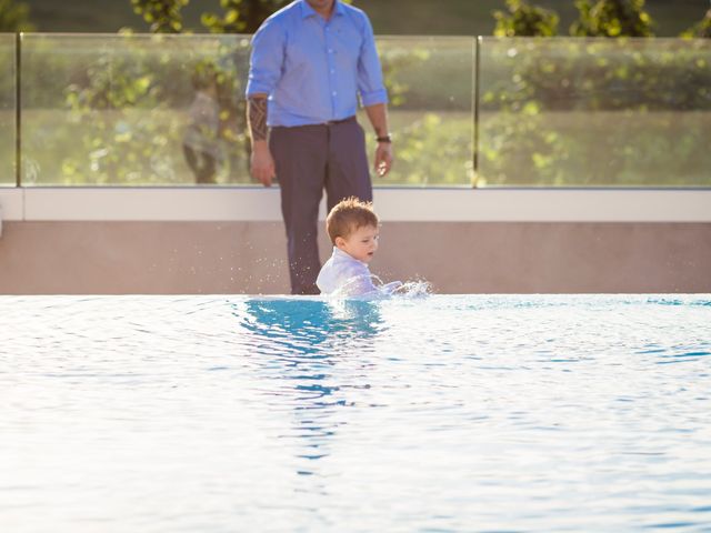
<path id="1" fill-rule="evenodd" d="M 478 187 L 711 187 L 711 41 L 483 38 Z"/>

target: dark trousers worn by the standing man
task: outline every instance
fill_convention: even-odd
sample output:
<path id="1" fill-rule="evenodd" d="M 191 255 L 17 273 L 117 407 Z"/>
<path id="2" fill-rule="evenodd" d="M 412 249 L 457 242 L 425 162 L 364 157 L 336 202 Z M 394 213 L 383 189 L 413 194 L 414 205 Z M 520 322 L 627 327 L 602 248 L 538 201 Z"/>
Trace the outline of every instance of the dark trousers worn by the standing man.
<path id="1" fill-rule="evenodd" d="M 318 294 L 321 269 L 318 248 L 319 203 L 348 197 L 373 198 L 365 135 L 356 118 L 330 124 L 272 128 L 269 147 L 281 188 L 292 294 Z"/>

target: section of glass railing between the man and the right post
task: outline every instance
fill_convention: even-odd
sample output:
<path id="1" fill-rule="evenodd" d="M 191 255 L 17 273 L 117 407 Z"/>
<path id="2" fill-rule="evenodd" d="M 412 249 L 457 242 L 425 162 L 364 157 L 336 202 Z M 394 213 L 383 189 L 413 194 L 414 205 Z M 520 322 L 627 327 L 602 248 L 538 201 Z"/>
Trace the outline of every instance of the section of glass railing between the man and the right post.
<path id="1" fill-rule="evenodd" d="M 471 187 L 474 46 L 472 38 L 378 39 L 395 162 L 375 187 Z M 372 128 L 360 114 L 372 159 Z"/>

